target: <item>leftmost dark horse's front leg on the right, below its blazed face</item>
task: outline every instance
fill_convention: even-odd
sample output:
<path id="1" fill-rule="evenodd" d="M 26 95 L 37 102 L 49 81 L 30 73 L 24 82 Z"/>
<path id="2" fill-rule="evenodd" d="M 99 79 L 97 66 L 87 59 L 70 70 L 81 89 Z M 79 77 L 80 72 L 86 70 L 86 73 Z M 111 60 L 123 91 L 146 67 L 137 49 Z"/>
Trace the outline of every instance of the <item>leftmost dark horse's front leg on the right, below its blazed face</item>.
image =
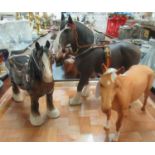
<path id="1" fill-rule="evenodd" d="M 53 90 L 46 94 L 46 104 L 47 104 L 47 116 L 49 118 L 58 118 L 60 116 L 60 112 L 53 105 Z"/>

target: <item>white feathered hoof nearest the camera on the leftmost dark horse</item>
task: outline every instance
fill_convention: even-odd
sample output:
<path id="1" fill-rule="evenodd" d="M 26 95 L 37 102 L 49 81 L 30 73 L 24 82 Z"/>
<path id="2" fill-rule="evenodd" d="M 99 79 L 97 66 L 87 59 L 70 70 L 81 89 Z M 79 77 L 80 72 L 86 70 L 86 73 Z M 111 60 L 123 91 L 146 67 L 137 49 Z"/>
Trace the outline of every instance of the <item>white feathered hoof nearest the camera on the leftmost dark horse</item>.
<path id="1" fill-rule="evenodd" d="M 46 116 L 33 116 L 32 114 L 30 115 L 30 122 L 33 126 L 40 126 L 42 125 L 46 120 Z"/>

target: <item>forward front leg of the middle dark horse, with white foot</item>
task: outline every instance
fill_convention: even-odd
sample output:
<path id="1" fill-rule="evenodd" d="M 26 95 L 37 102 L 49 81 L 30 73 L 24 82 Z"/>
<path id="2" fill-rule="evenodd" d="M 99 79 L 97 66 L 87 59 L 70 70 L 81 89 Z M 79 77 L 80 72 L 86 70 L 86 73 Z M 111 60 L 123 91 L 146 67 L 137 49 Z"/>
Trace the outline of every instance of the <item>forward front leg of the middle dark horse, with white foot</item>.
<path id="1" fill-rule="evenodd" d="M 80 81 L 77 86 L 77 93 L 73 98 L 70 98 L 70 105 L 80 105 L 81 104 L 81 92 L 84 87 L 88 83 L 89 75 L 81 74 Z"/>

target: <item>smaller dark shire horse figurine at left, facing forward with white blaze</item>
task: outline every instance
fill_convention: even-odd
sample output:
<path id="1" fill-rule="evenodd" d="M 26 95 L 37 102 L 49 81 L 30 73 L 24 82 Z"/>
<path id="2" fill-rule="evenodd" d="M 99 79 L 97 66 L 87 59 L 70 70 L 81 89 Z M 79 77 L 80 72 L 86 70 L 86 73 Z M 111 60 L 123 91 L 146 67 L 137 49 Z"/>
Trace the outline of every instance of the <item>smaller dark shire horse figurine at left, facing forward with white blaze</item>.
<path id="1" fill-rule="evenodd" d="M 40 46 L 38 42 L 30 56 L 18 55 L 9 58 L 10 78 L 13 90 L 13 99 L 23 100 L 19 87 L 26 90 L 31 98 L 30 122 L 34 126 L 43 124 L 46 116 L 39 112 L 39 98 L 46 95 L 47 115 L 57 118 L 59 111 L 53 105 L 54 80 L 52 75 L 50 43 Z"/>

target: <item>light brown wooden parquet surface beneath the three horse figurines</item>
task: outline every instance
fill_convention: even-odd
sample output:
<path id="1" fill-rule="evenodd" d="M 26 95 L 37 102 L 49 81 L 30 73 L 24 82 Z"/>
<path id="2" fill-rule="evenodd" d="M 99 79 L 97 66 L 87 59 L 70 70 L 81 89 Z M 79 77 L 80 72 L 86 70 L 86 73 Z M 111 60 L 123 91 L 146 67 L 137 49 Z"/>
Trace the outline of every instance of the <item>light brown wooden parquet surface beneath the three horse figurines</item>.
<path id="1" fill-rule="evenodd" d="M 83 98 L 81 106 L 69 106 L 69 97 L 76 92 L 76 82 L 57 83 L 54 104 L 60 110 L 57 119 L 48 119 L 40 127 L 29 122 L 30 98 L 26 94 L 24 102 L 11 99 L 11 89 L 0 99 L 0 141 L 76 141 L 103 142 L 105 115 L 101 112 L 99 99 L 94 96 L 95 85 L 91 84 L 91 94 Z M 142 100 L 142 98 L 140 99 Z M 155 106 L 151 98 L 143 113 L 141 101 L 136 101 L 123 122 L 119 141 L 155 141 Z M 46 113 L 45 97 L 40 99 L 40 111 Z M 111 133 L 115 131 L 116 113 L 112 112 Z"/>

